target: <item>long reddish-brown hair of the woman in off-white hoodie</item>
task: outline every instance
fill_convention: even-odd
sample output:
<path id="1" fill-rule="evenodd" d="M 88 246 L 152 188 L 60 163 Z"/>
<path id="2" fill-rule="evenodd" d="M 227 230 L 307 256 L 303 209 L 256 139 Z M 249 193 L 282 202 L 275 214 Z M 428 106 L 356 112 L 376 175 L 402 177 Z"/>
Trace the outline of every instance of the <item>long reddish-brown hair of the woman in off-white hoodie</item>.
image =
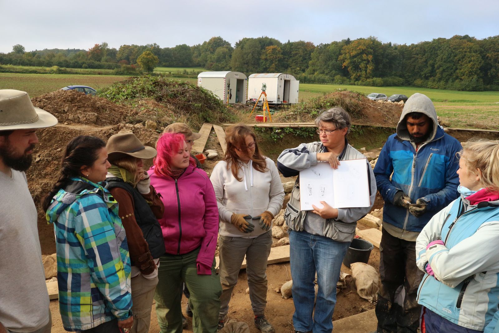
<path id="1" fill-rule="evenodd" d="M 253 168 L 259 172 L 265 172 L 267 170 L 267 164 L 265 162 L 265 157 L 261 154 L 258 149 L 258 144 L 256 143 L 256 135 L 251 130 L 251 128 L 245 124 L 237 124 L 227 127 L 225 130 L 225 141 L 227 142 L 227 149 L 225 152 L 224 161 L 227 161 L 227 170 L 231 168 L 232 174 L 238 181 L 242 181 L 242 177 L 238 177 L 239 165 L 237 161 L 239 156 L 236 153 L 236 146 L 241 149 L 248 149 L 246 145 L 246 136 L 251 135 L 254 140 L 254 154 L 250 156 L 250 160 L 253 161 Z"/>

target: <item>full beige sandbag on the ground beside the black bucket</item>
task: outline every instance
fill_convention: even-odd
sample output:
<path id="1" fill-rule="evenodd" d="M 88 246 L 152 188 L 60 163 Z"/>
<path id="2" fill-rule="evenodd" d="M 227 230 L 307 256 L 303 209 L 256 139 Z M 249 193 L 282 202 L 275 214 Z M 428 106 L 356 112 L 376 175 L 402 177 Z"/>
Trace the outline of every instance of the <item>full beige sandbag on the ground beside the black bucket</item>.
<path id="1" fill-rule="evenodd" d="M 363 299 L 375 303 L 379 292 L 378 272 L 376 272 L 374 267 L 364 263 L 353 263 L 350 267 L 352 269 L 353 281 L 357 287 L 357 294 Z"/>

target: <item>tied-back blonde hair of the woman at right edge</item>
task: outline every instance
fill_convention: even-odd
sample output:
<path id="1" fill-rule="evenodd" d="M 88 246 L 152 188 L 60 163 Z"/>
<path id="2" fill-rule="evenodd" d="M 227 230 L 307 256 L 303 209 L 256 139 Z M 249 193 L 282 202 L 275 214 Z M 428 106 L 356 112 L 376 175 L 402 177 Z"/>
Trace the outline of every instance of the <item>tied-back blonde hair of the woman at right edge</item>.
<path id="1" fill-rule="evenodd" d="M 480 181 L 489 190 L 499 192 L 499 141 L 472 139 L 458 153 L 468 170 L 480 169 Z"/>

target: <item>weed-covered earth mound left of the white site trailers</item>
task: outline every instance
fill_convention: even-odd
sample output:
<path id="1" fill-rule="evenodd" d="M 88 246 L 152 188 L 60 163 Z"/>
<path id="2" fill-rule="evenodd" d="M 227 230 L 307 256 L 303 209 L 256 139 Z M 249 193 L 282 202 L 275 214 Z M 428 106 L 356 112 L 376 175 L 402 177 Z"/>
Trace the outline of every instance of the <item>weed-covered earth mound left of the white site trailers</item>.
<path id="1" fill-rule="evenodd" d="M 147 104 L 141 100 L 152 99 L 164 106 L 144 112 L 144 119 L 154 120 L 160 127 L 172 122 L 172 118 L 184 120 L 193 128 L 200 128 L 204 122 L 221 123 L 236 121 L 233 112 L 211 91 L 198 87 L 195 83 L 176 81 L 161 76 L 143 75 L 117 82 L 99 95 L 117 103 L 136 106 Z M 172 113 L 174 117 L 172 117 Z M 151 119 L 151 116 L 152 119 Z"/>

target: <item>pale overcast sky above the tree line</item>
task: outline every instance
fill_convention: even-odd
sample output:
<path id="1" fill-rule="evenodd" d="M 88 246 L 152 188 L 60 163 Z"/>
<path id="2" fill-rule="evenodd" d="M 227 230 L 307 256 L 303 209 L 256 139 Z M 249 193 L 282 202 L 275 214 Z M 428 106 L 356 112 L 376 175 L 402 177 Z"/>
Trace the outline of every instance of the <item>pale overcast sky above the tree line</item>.
<path id="1" fill-rule="evenodd" d="M 499 34 L 498 16 L 498 0 L 0 0 L 0 52 L 104 41 L 173 47 L 213 36 L 233 46 L 264 35 L 316 45 L 370 35 L 398 44 L 456 34 L 483 39 Z"/>

